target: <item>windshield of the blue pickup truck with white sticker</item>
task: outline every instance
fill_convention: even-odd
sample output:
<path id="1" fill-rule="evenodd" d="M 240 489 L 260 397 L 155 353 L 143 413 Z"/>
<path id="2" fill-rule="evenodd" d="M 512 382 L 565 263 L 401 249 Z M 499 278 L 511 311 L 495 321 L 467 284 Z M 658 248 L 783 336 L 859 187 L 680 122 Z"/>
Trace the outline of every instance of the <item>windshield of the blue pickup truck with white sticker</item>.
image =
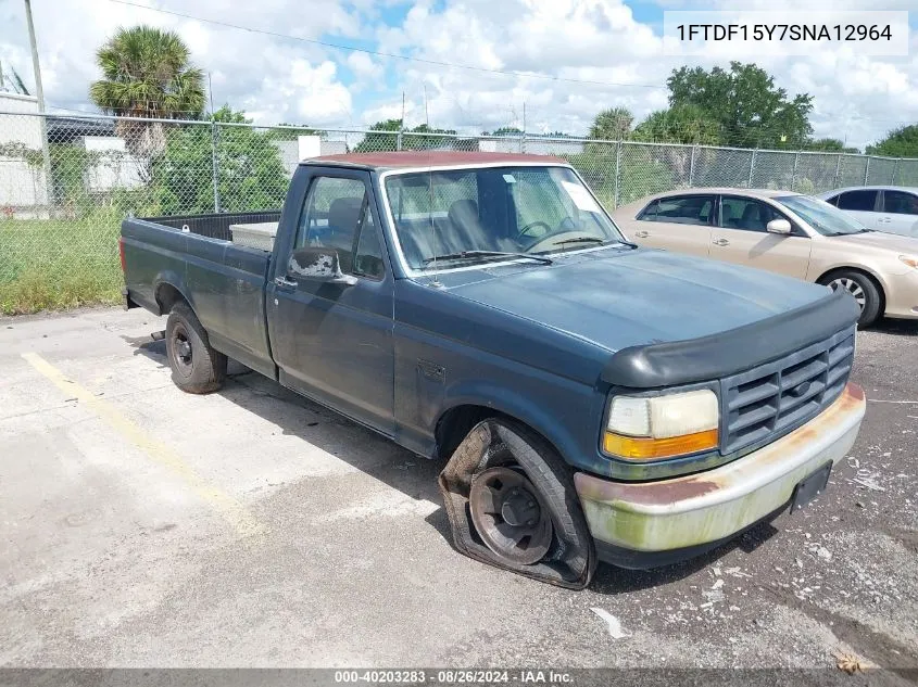
<path id="1" fill-rule="evenodd" d="M 567 167 L 394 174 L 386 179 L 386 195 L 402 252 L 417 270 L 623 242 Z"/>

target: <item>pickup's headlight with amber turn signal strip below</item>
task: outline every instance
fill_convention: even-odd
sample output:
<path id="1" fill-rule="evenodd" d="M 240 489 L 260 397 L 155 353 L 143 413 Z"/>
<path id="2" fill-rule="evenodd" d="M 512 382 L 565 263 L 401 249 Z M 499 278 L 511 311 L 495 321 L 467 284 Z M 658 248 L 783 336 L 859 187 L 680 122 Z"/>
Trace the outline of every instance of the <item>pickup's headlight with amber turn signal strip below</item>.
<path id="1" fill-rule="evenodd" d="M 628 460 L 672 458 L 717 447 L 720 409 L 708 390 L 664 396 L 615 396 L 603 450 Z"/>

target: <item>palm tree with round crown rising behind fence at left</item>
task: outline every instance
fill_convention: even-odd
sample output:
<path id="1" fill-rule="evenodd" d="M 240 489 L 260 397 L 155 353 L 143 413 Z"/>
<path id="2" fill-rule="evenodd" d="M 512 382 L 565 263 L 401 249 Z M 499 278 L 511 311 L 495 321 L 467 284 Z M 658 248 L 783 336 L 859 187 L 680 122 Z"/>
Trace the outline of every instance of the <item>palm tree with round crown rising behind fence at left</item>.
<path id="1" fill-rule="evenodd" d="M 89 88 L 92 102 L 109 114 L 192 119 L 204 110 L 204 75 L 189 62 L 188 47 L 173 31 L 152 26 L 122 28 L 99 49 L 102 79 Z M 118 122 L 135 154 L 162 152 L 162 124 Z"/>

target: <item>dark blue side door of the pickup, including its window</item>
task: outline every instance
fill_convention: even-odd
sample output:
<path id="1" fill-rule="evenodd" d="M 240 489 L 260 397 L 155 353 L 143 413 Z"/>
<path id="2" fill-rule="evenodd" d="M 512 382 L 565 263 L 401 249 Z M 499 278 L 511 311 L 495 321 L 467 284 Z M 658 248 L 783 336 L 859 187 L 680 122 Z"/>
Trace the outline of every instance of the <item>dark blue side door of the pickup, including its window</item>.
<path id="1" fill-rule="evenodd" d="M 267 287 L 280 382 L 391 435 L 394 282 L 369 175 L 316 170 L 306 183 L 295 231 L 278 237 L 282 244 Z M 290 258 L 304 246 L 337 251 L 355 283 L 298 277 Z"/>

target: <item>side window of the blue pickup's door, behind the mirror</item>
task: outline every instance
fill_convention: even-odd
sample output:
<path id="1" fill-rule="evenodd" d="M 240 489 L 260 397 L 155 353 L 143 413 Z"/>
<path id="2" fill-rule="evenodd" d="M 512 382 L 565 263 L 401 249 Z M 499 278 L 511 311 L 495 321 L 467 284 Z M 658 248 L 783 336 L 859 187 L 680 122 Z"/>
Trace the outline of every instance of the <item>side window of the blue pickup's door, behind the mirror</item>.
<path id="1" fill-rule="evenodd" d="M 316 177 L 300 215 L 294 249 L 335 249 L 344 272 L 381 279 L 382 251 L 367 201 L 360 179 Z"/>

